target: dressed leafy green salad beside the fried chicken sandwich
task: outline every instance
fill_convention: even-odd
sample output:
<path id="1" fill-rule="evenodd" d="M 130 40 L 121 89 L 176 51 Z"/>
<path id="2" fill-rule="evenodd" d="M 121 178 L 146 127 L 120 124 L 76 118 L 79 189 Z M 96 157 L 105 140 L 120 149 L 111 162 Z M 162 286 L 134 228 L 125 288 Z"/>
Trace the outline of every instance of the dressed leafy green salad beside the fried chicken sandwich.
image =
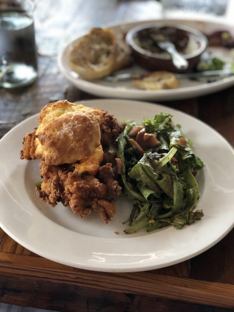
<path id="1" fill-rule="evenodd" d="M 144 118 L 142 126 L 147 133 L 156 134 L 160 144 L 145 150 L 143 156 L 129 142 L 128 133 L 135 123 L 127 123 L 117 139 L 117 154 L 123 163 L 119 182 L 134 203 L 129 227 L 124 231 L 127 234 L 170 224 L 180 229 L 203 217 L 202 210 L 193 211 L 200 196 L 193 173 L 203 167 L 203 162 L 194 155 L 190 140 L 185 147 L 178 144 L 185 136 L 171 118 L 165 113 Z"/>

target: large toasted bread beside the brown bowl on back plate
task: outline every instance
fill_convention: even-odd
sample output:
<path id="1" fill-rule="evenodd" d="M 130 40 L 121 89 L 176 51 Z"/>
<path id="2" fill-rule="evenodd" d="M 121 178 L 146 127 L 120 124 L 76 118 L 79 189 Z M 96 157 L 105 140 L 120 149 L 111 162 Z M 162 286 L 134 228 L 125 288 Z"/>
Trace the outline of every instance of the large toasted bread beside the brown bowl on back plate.
<path id="1" fill-rule="evenodd" d="M 114 32 L 92 28 L 73 47 L 68 63 L 82 78 L 95 80 L 128 66 L 130 58 L 119 46 Z"/>

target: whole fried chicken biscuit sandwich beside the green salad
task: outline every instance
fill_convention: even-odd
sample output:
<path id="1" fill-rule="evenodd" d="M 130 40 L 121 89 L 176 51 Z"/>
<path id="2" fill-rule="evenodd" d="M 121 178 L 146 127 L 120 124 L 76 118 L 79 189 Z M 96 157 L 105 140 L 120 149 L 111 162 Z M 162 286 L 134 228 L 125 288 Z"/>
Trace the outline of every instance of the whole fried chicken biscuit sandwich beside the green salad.
<path id="1" fill-rule="evenodd" d="M 121 187 L 110 145 L 124 129 L 107 112 L 67 100 L 46 105 L 39 126 L 23 139 L 21 159 L 40 159 L 43 182 L 36 194 L 52 207 L 70 206 L 80 217 L 97 211 L 108 223 Z"/>

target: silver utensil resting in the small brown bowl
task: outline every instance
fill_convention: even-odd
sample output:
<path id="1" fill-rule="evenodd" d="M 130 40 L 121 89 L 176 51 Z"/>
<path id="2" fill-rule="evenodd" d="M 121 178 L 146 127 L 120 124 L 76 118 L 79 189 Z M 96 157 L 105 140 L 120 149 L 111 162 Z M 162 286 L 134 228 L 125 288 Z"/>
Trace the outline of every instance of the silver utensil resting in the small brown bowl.
<path id="1" fill-rule="evenodd" d="M 176 50 L 175 45 L 168 40 L 165 41 L 157 41 L 157 45 L 164 51 L 167 51 L 171 58 L 174 66 L 177 69 L 187 69 L 188 61 Z"/>

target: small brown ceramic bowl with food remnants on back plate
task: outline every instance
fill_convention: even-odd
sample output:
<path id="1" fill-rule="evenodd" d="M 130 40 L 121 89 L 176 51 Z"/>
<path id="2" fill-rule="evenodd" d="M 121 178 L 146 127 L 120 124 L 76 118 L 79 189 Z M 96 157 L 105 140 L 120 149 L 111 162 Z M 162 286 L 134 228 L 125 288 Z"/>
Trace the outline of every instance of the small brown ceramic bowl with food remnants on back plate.
<path id="1" fill-rule="evenodd" d="M 178 70 L 171 56 L 156 42 L 169 40 L 188 61 L 186 70 Z M 207 47 L 207 38 L 194 28 L 184 25 L 144 24 L 132 28 L 126 35 L 135 62 L 149 71 L 188 72 L 194 69 Z"/>

